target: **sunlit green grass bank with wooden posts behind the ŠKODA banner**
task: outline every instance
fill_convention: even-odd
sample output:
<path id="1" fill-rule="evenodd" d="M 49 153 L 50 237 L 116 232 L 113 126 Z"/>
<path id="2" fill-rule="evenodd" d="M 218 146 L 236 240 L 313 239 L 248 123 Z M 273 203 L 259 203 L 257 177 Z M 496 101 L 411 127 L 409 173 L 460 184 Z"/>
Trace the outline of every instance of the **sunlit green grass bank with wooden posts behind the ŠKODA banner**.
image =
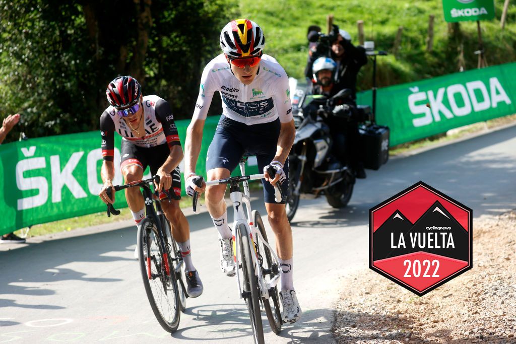
<path id="1" fill-rule="evenodd" d="M 506 26 L 500 27 L 503 0 L 495 0 L 496 18 L 482 21 L 482 39 L 489 65 L 516 60 L 516 6 L 509 5 Z M 240 2 L 240 14 L 258 23 L 264 30 L 266 53 L 278 59 L 289 76 L 303 77 L 307 61 L 309 25 L 326 31 L 326 16 L 334 15 L 334 23 L 349 32 L 358 44 L 357 21 L 364 21 L 366 41 L 375 41 L 377 50 L 389 52 L 378 58 L 378 86 L 389 86 L 477 68 L 478 50 L 476 22 L 461 22 L 460 29 L 448 31 L 441 1 L 406 0 L 264 0 Z M 433 50 L 426 51 L 429 15 L 435 16 Z M 401 44 L 396 56 L 393 46 L 398 27 L 403 26 Z M 461 57 L 463 56 L 463 57 Z M 461 62 L 463 59 L 463 62 Z M 372 85 L 372 63 L 361 71 L 358 88 Z"/>

